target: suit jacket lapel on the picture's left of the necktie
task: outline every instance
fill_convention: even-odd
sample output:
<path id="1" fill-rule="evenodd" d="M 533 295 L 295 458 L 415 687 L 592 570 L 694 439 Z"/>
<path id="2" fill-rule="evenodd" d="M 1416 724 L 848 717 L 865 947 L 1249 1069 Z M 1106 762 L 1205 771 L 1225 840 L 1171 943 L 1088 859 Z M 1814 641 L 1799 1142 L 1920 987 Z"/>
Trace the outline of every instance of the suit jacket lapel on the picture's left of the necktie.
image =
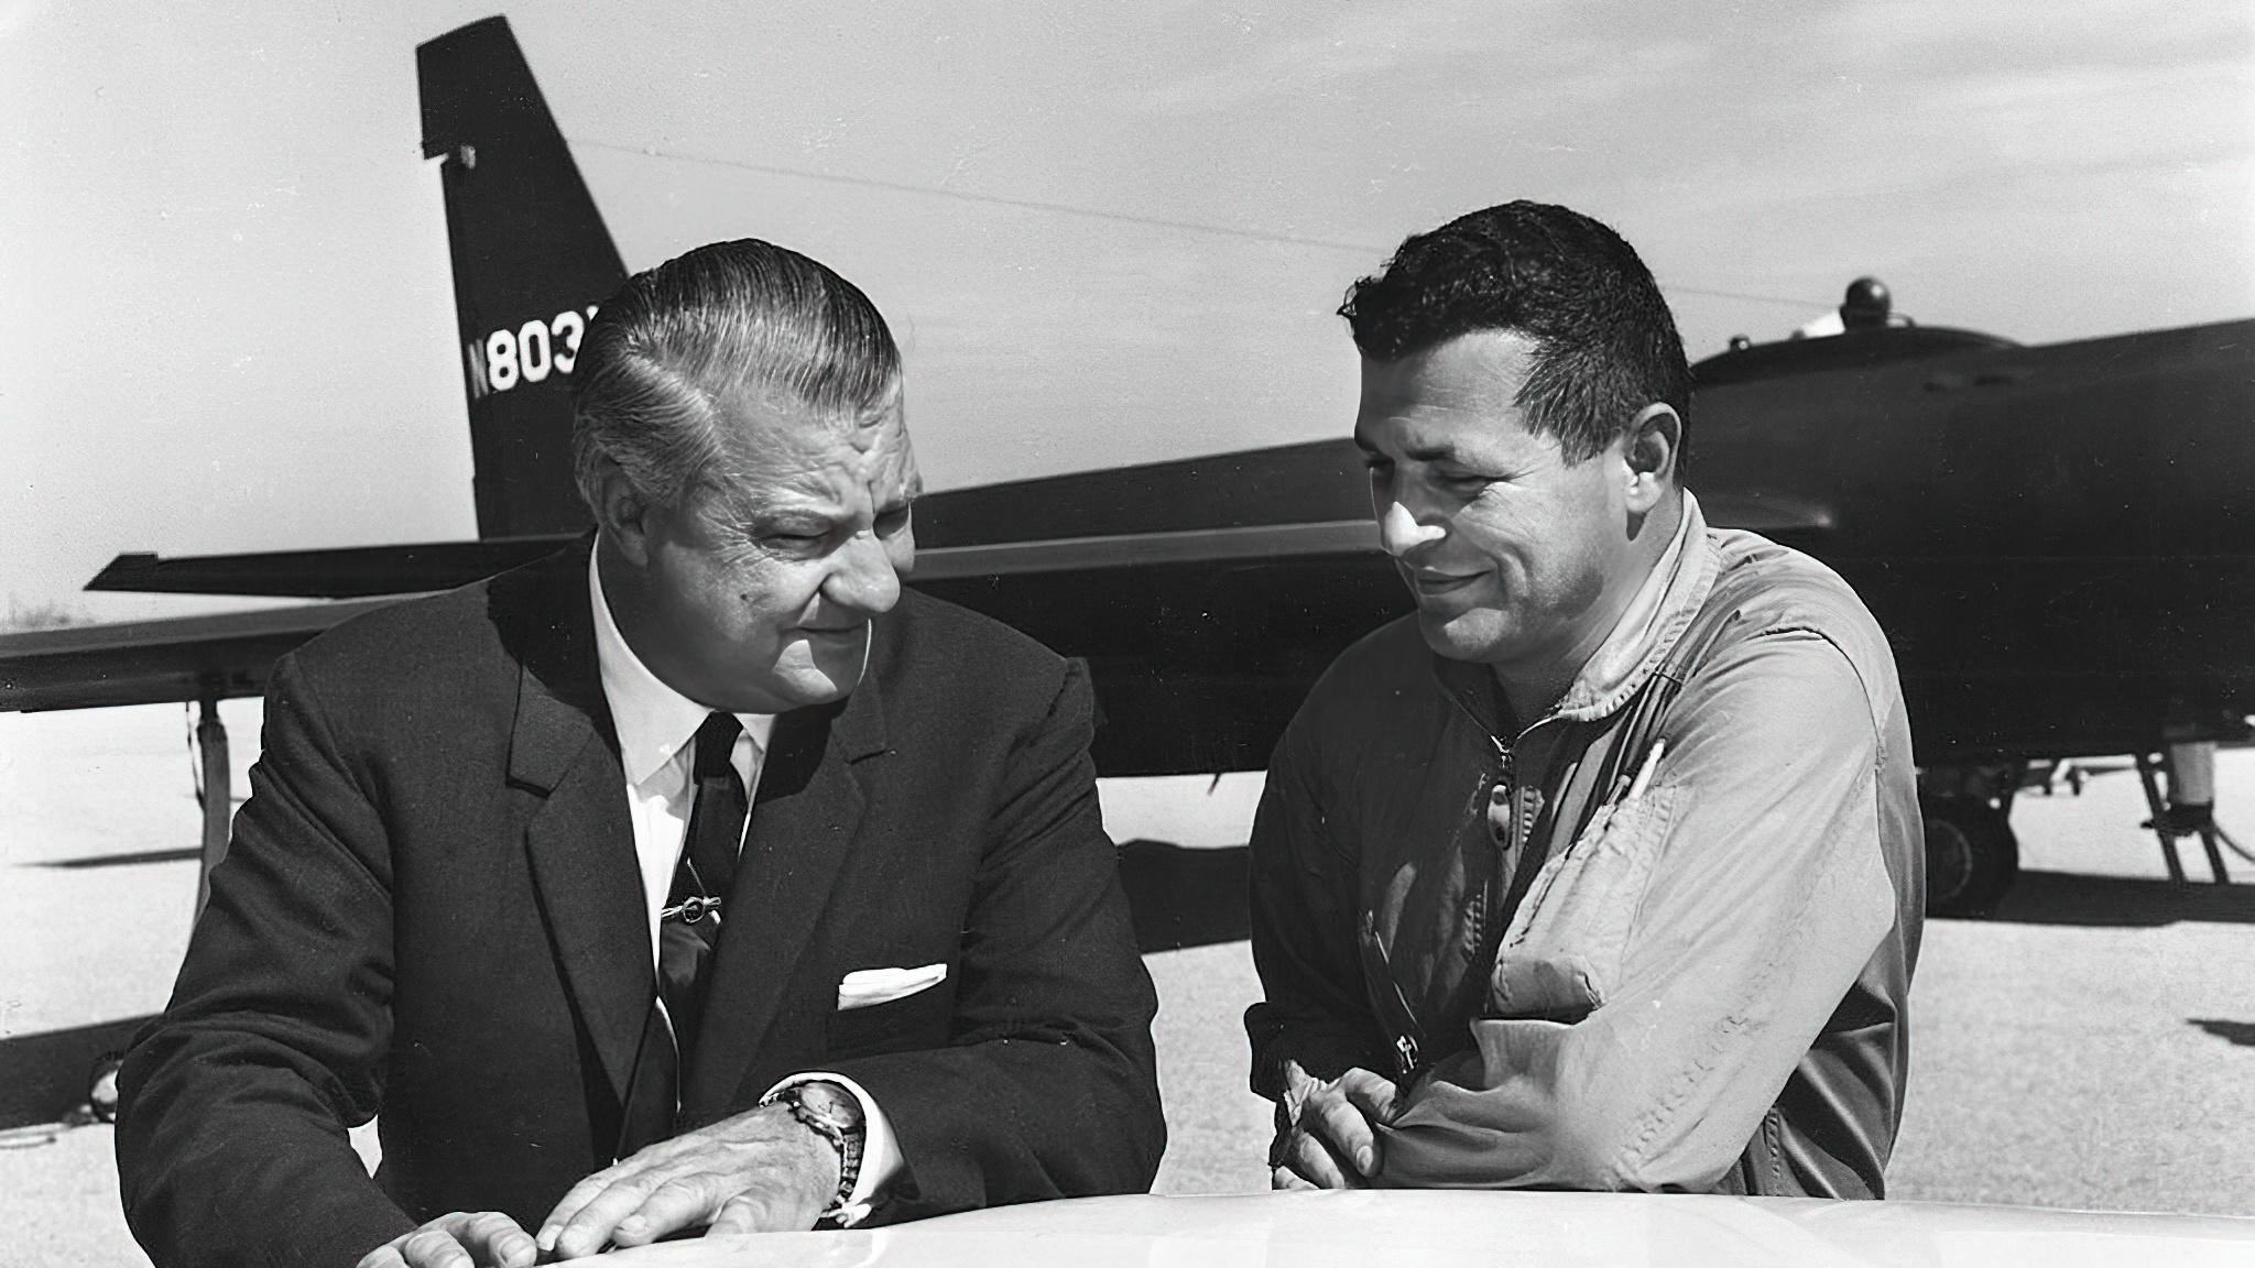
<path id="1" fill-rule="evenodd" d="M 494 618 L 521 668 L 510 783 L 541 803 L 525 853 L 541 916 L 611 1090 L 627 1094 L 656 1000 L 627 776 L 595 666 L 586 551 L 496 578 Z"/>

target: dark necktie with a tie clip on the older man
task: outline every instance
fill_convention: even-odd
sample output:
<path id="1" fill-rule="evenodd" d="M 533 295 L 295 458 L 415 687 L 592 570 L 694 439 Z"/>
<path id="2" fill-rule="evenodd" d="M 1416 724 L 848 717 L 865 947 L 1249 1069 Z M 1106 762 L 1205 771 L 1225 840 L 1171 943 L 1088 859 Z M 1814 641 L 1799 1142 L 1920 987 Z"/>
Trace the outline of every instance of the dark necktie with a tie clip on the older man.
<path id="1" fill-rule="evenodd" d="M 688 1063 L 697 1056 L 713 948 L 719 943 L 724 900 L 735 882 L 735 857 L 751 805 L 744 781 L 728 760 L 742 733 L 744 724 L 733 713 L 713 713 L 697 729 L 690 774 L 697 803 L 674 866 L 674 889 L 658 918 L 658 997 L 665 1000 L 672 1029 L 667 1033 L 665 1018 L 649 1011 L 627 1090 L 618 1157 L 672 1135 Z"/>

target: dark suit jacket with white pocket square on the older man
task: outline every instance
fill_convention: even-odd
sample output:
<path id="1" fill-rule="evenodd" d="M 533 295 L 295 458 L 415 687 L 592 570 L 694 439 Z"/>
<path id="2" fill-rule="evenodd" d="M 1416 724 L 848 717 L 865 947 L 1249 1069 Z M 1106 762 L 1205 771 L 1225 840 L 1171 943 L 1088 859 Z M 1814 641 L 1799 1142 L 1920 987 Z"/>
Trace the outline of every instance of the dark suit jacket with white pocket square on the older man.
<path id="1" fill-rule="evenodd" d="M 1082 666 L 904 593 L 837 706 L 778 720 L 690 1124 L 832 1069 L 907 1157 L 879 1221 L 1150 1187 L 1150 1018 Z M 352 1263 L 451 1209 L 537 1230 L 611 1162 L 649 927 L 586 546 L 352 620 L 275 668 L 264 756 L 117 1171 L 160 1266 Z M 837 1013 L 857 968 L 947 981 Z M 345 1126 L 381 1117 L 365 1175 Z"/>

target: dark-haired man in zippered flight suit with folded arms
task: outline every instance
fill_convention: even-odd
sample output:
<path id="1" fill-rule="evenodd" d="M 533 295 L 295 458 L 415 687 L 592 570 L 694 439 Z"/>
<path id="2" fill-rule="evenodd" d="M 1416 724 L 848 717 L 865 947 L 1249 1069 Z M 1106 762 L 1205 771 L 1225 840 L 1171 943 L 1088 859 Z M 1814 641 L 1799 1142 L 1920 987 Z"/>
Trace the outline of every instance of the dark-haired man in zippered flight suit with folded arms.
<path id="1" fill-rule="evenodd" d="M 1315 686 L 1254 826 L 1276 1185 L 1881 1196 L 1924 846 L 1878 625 L 1707 526 L 1606 226 L 1473 212 L 1342 314 L 1416 614 Z"/>

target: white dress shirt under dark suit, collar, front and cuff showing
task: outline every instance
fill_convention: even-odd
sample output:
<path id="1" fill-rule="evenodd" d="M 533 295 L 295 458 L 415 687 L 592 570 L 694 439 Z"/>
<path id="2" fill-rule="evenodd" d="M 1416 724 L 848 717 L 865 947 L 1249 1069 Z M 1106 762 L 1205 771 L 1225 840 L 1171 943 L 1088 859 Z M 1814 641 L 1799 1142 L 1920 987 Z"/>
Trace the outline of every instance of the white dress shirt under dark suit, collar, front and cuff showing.
<path id="1" fill-rule="evenodd" d="M 634 855 L 643 871 L 643 907 L 649 912 L 649 963 L 656 963 L 658 912 L 672 893 L 674 869 L 681 864 L 681 842 L 688 837 L 690 810 L 697 801 L 690 778 L 697 760 L 697 729 L 713 711 L 665 686 L 627 645 L 618 623 L 611 620 L 609 600 L 602 598 L 602 573 L 595 569 L 598 551 L 591 551 L 586 560 L 586 593 L 595 609 L 595 666 L 602 672 L 602 697 L 611 706 L 611 724 L 618 729 L 618 763 L 627 774 L 627 817 L 634 824 Z M 735 738 L 735 751 L 728 760 L 744 781 L 744 796 L 751 799 L 760 790 L 760 767 L 767 763 L 767 740 L 776 733 L 776 715 L 737 713 L 735 720 L 744 724 L 744 733 Z M 744 828 L 751 828 L 749 817 Z M 742 839 L 737 848 L 742 848 Z M 733 907 L 722 912 L 722 921 L 744 918 L 758 916 L 740 914 Z M 794 1074 L 776 1083 L 773 1092 L 812 1081 L 837 1083 L 861 1101 L 866 1126 L 861 1175 L 839 1214 L 839 1223 L 852 1225 L 868 1216 L 877 1191 L 900 1171 L 900 1142 L 877 1101 L 843 1074 Z"/>

